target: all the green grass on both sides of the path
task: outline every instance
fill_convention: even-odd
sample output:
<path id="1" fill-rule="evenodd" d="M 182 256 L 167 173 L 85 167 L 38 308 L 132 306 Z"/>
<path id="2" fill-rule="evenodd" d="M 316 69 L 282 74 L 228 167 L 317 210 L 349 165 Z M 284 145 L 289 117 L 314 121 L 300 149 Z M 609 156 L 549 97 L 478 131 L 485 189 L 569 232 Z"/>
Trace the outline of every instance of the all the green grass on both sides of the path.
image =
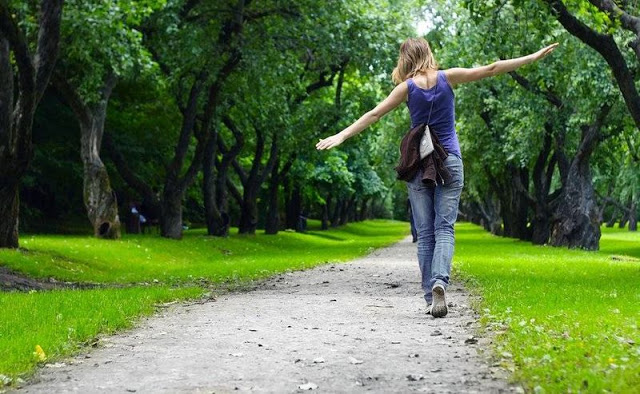
<path id="1" fill-rule="evenodd" d="M 347 261 L 386 246 L 408 225 L 368 221 L 307 234 L 207 237 L 182 241 L 128 236 L 23 236 L 0 264 L 33 277 L 127 284 L 125 288 L 0 293 L 0 375 L 29 373 L 76 352 L 98 334 L 130 327 L 161 302 L 198 297 L 210 283 L 244 283 L 275 273 Z M 532 246 L 456 227 L 454 269 L 482 295 L 484 326 L 513 378 L 546 392 L 638 392 L 640 234 L 603 229 L 601 251 Z M 142 283 L 151 285 L 142 286 Z M 0 376 L 0 381 L 2 380 Z M 1 386 L 1 384 L 0 384 Z"/>

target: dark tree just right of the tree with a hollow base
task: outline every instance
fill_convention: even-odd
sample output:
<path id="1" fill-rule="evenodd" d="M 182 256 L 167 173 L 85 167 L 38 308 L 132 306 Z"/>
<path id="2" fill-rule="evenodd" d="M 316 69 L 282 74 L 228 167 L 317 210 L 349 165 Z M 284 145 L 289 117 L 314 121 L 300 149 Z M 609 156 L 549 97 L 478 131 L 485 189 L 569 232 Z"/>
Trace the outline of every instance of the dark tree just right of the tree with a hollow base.
<path id="1" fill-rule="evenodd" d="M 174 155 L 166 166 L 161 199 L 160 227 L 165 237 L 182 237 L 182 200 L 202 166 L 209 139 L 217 138 L 212 135 L 214 116 L 224 84 L 242 57 L 244 24 L 260 17 L 249 9 L 250 4 L 251 0 L 226 3 L 222 5 L 225 12 L 219 13 L 219 4 L 178 2 L 168 6 L 145 29 L 150 51 L 172 84 L 182 115 Z M 219 14 L 223 18 L 212 19 L 212 15 Z M 192 137 L 197 143 L 190 152 Z"/>

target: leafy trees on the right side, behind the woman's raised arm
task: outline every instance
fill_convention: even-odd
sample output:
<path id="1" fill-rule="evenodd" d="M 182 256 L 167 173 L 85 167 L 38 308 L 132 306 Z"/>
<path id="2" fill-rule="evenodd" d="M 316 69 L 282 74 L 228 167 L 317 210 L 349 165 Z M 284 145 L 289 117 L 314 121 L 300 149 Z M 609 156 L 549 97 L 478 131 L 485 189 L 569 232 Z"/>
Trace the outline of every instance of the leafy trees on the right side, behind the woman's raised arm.
<path id="1" fill-rule="evenodd" d="M 469 219 L 585 249 L 598 248 L 607 215 L 625 213 L 637 229 L 638 11 L 597 0 L 445 4 L 433 40 L 446 65 L 561 43 L 544 62 L 459 90 Z"/>

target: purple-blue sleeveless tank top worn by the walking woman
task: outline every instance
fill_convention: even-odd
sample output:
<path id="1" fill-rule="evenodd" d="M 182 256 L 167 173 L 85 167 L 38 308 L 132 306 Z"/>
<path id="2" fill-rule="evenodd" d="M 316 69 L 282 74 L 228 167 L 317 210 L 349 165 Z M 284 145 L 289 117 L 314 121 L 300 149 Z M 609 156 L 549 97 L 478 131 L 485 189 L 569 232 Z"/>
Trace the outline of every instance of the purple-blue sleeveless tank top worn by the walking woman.
<path id="1" fill-rule="evenodd" d="M 411 127 L 427 123 L 433 102 L 429 127 L 436 134 L 447 153 L 462 158 L 456 134 L 455 95 L 444 72 L 438 71 L 436 85 L 430 89 L 423 89 L 416 85 L 413 78 L 407 80 L 407 87 L 409 88 L 407 107 L 409 114 L 411 114 Z"/>

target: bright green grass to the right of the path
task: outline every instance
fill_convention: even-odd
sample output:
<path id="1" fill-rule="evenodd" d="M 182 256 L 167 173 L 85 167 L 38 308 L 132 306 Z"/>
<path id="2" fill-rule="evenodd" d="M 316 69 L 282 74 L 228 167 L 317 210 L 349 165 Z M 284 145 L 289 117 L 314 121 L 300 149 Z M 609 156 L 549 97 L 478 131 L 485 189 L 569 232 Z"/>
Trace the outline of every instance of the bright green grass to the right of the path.
<path id="1" fill-rule="evenodd" d="M 532 246 L 456 225 L 455 267 L 482 295 L 495 354 L 546 392 L 638 392 L 640 234 L 603 229 L 601 251 Z"/>

